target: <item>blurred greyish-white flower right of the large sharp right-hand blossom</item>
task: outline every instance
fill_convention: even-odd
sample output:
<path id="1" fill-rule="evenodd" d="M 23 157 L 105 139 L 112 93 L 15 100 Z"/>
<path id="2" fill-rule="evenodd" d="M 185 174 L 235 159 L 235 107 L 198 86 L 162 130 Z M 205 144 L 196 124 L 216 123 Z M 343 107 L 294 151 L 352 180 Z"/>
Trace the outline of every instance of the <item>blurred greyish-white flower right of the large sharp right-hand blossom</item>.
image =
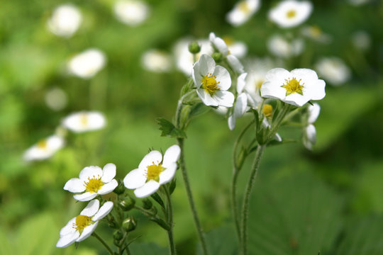
<path id="1" fill-rule="evenodd" d="M 351 78 L 351 71 L 339 57 L 323 57 L 315 64 L 318 74 L 335 86 L 344 84 Z"/>

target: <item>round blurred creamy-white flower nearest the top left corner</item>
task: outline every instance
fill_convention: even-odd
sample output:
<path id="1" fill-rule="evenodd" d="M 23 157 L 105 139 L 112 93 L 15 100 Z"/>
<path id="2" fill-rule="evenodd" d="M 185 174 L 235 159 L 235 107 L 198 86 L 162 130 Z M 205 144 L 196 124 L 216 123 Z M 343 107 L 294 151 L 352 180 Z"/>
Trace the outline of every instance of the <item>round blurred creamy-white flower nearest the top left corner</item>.
<path id="1" fill-rule="evenodd" d="M 82 22 L 82 14 L 76 6 L 64 4 L 53 11 L 48 20 L 48 29 L 55 35 L 70 38 Z"/>

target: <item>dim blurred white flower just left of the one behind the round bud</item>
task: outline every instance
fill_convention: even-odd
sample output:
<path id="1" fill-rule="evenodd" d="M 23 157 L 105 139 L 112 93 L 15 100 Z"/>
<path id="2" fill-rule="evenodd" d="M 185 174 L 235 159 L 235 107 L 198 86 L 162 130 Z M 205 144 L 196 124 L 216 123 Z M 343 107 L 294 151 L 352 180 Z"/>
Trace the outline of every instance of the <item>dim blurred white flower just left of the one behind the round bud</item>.
<path id="1" fill-rule="evenodd" d="M 150 72 L 169 72 L 172 69 L 172 58 L 162 50 L 148 50 L 141 57 L 143 68 Z"/>

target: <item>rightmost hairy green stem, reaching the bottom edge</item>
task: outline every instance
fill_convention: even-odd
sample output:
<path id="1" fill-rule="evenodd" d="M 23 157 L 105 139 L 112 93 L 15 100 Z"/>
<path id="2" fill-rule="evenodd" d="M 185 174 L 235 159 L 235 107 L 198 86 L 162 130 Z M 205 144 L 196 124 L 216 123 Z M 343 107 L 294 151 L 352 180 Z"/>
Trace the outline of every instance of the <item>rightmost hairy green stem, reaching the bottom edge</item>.
<path id="1" fill-rule="evenodd" d="M 260 159 L 262 157 L 263 151 L 266 145 L 258 145 L 255 152 L 255 159 L 252 163 L 252 169 L 250 173 L 250 179 L 248 186 L 246 186 L 245 196 L 243 198 L 243 208 L 242 208 L 242 226 L 241 226 L 241 244 L 240 250 L 242 255 L 247 254 L 247 242 L 248 242 L 248 213 L 249 213 L 249 204 L 250 204 L 250 194 L 252 191 L 252 186 L 254 186 L 255 179 L 257 178 L 258 168 L 260 167 Z"/>

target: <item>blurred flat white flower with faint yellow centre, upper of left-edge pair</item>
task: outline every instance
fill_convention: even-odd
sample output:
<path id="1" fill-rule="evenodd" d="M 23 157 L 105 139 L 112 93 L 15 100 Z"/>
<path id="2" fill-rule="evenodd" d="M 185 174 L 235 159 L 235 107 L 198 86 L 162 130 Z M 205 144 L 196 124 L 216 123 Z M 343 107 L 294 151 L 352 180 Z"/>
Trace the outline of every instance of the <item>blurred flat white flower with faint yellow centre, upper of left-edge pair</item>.
<path id="1" fill-rule="evenodd" d="M 62 120 L 62 125 L 73 132 L 99 130 L 106 125 L 104 115 L 96 111 L 72 113 Z"/>

